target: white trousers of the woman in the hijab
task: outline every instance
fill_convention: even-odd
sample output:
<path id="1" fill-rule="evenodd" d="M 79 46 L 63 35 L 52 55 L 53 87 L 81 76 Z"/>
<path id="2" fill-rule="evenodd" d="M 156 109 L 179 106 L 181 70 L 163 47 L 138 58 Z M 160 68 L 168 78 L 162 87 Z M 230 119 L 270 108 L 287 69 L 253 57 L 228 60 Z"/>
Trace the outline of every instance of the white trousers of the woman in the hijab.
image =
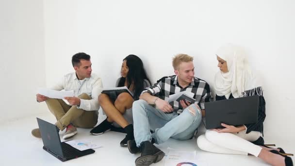
<path id="1" fill-rule="evenodd" d="M 213 153 L 240 155 L 249 153 L 258 157 L 262 148 L 251 142 L 256 141 L 260 135 L 259 132 L 246 133 L 246 130 L 239 133 L 217 133 L 207 130 L 197 138 L 197 146 Z"/>

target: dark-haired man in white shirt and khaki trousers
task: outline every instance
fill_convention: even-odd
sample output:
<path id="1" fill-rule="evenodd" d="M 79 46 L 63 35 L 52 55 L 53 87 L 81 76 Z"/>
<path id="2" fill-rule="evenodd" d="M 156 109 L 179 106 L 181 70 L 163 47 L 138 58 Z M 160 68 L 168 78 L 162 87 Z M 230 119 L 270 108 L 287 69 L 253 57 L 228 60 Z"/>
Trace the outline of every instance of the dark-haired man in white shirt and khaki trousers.
<path id="1" fill-rule="evenodd" d="M 98 95 L 102 89 L 101 79 L 92 74 L 90 56 L 80 52 L 72 57 L 72 65 L 76 72 L 66 74 L 53 90 L 74 90 L 75 97 L 65 97 L 67 104 L 61 99 L 51 99 L 37 94 L 38 102 L 45 101 L 50 112 L 56 117 L 55 125 L 69 138 L 77 133 L 76 127 L 93 128 L 98 122 Z M 41 138 L 39 129 L 33 129 L 32 135 Z"/>

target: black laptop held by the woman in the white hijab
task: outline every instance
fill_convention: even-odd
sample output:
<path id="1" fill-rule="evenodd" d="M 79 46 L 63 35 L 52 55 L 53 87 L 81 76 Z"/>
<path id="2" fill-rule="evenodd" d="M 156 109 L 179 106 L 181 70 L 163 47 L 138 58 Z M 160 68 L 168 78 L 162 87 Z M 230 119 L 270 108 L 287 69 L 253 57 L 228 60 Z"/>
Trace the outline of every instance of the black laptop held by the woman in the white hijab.
<path id="1" fill-rule="evenodd" d="M 259 96 L 206 102 L 203 122 L 206 129 L 223 128 L 221 123 L 233 126 L 256 123 L 258 109 Z"/>

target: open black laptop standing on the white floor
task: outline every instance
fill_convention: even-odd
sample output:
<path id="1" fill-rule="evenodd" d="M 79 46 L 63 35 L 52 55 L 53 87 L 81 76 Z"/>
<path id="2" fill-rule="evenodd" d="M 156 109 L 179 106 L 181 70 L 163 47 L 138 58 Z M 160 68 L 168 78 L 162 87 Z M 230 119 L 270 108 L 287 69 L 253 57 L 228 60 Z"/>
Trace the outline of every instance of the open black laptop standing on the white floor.
<path id="1" fill-rule="evenodd" d="M 78 150 L 65 142 L 61 142 L 55 125 L 37 117 L 39 130 L 43 140 L 43 149 L 62 162 L 94 153 L 93 149 Z"/>

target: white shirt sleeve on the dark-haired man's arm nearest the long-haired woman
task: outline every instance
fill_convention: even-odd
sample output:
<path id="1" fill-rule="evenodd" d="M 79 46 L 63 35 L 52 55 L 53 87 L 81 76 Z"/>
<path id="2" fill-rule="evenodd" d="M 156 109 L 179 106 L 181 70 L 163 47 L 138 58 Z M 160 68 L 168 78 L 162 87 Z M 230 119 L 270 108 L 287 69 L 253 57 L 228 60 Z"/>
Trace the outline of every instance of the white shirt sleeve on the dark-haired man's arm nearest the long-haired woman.
<path id="1" fill-rule="evenodd" d="M 81 100 L 80 106 L 77 108 L 83 109 L 85 111 L 98 111 L 100 105 L 98 103 L 98 96 L 102 91 L 102 81 L 100 78 L 97 78 L 95 83 L 93 84 L 92 92 L 91 92 L 91 100 Z"/>

